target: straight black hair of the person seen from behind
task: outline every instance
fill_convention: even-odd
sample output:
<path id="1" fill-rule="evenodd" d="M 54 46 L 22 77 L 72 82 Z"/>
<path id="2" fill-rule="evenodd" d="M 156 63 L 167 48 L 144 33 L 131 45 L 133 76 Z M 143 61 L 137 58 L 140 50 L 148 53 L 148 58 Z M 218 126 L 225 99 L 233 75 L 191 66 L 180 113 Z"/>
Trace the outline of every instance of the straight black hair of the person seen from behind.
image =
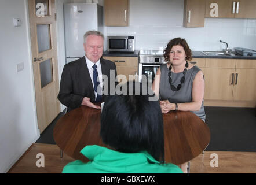
<path id="1" fill-rule="evenodd" d="M 136 87 L 136 82 L 128 83 Z M 128 83 L 124 84 L 127 91 Z M 139 95 L 112 95 L 105 101 L 100 135 L 103 142 L 115 150 L 125 153 L 147 151 L 155 160 L 163 162 L 163 134 L 159 102 L 149 101 L 148 93 L 143 95 L 140 91 Z"/>

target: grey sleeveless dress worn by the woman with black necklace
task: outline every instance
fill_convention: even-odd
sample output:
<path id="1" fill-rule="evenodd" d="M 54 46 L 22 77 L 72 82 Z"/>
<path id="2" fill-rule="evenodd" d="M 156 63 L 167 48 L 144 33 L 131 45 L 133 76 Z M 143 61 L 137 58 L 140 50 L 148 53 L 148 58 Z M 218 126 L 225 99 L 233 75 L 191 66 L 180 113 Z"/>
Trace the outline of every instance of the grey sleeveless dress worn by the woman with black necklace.
<path id="1" fill-rule="evenodd" d="M 196 74 L 200 71 L 198 66 L 193 66 L 191 69 L 188 69 L 185 74 L 185 83 L 181 84 L 182 87 L 178 91 L 171 90 L 171 86 L 169 84 L 169 69 L 166 64 L 160 66 L 161 76 L 160 76 L 160 100 L 168 99 L 171 103 L 185 103 L 192 102 L 192 86 L 193 80 Z M 183 73 L 171 73 L 171 79 L 173 79 L 173 85 L 175 87 L 181 83 L 181 77 Z M 195 113 L 200 119 L 205 122 L 206 114 L 204 112 L 203 101 L 201 105 L 201 109 L 199 111 L 192 111 Z"/>

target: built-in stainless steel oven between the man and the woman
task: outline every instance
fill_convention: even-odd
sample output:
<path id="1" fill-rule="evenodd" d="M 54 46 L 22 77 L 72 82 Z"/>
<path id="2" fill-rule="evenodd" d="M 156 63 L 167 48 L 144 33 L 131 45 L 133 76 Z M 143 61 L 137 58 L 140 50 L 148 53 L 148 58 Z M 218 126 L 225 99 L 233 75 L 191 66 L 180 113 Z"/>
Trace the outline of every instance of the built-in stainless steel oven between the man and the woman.
<path id="1" fill-rule="evenodd" d="M 162 64 L 166 64 L 162 50 L 140 50 L 138 63 L 139 81 L 152 84 L 156 71 Z"/>

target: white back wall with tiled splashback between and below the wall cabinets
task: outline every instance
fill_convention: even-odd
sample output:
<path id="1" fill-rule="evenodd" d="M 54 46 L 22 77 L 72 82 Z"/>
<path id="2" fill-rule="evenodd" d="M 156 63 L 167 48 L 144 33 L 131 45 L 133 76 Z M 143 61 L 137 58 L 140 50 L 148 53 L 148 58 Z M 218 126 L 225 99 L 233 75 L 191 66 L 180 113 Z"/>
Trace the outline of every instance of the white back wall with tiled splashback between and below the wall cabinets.
<path id="1" fill-rule="evenodd" d="M 163 49 L 170 39 L 185 38 L 192 50 L 226 47 L 256 49 L 255 19 L 206 18 L 203 28 L 183 27 L 184 1 L 130 0 L 129 27 L 107 27 L 107 35 L 135 35 L 136 49 Z"/>

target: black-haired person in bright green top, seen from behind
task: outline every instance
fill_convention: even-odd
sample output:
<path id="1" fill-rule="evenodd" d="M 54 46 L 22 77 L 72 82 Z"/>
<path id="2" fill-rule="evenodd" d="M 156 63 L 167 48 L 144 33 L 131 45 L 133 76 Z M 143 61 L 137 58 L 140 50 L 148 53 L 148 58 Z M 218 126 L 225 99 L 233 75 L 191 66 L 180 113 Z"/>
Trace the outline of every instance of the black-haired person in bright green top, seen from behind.
<path id="1" fill-rule="evenodd" d="M 182 173 L 164 162 L 159 102 L 149 101 L 141 83 L 127 82 L 120 89 L 123 93 L 109 96 L 101 113 L 100 135 L 108 148 L 86 146 L 81 153 L 90 161 L 70 162 L 63 173 Z"/>

